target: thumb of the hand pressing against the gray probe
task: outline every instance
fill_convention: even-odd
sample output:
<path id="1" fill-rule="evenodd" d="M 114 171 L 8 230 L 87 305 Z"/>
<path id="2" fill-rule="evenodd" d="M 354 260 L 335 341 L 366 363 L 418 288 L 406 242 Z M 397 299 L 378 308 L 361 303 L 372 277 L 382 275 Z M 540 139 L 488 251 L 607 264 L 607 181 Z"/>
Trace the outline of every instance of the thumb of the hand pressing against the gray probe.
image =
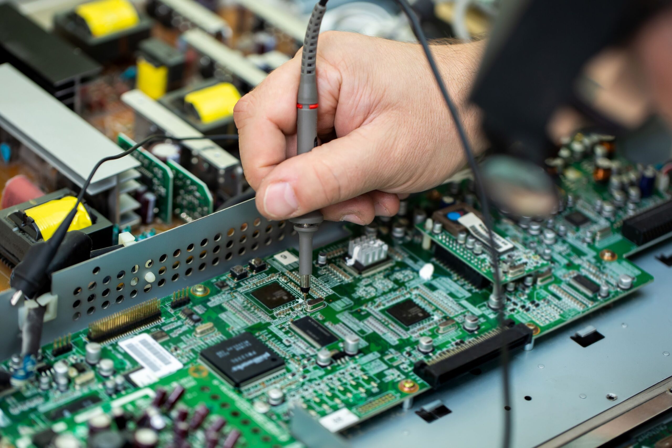
<path id="1" fill-rule="evenodd" d="M 257 189 L 257 209 L 280 220 L 378 189 L 387 171 L 377 148 L 384 138 L 372 138 L 365 128 L 274 167 Z"/>

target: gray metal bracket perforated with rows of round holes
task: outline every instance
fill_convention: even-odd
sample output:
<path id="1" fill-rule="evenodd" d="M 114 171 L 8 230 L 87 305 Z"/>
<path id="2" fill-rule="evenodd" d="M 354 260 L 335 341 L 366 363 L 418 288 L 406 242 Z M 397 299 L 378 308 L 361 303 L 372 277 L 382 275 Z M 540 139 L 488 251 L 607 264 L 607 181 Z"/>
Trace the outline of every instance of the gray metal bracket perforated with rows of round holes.
<path id="1" fill-rule="evenodd" d="M 325 226 L 333 239 L 341 226 Z M 45 322 L 41 344 L 86 328 L 89 323 L 152 298 L 161 298 L 222 275 L 254 257 L 266 257 L 298 242 L 290 222 L 268 221 L 254 199 L 146 238 L 128 247 L 57 271 L 52 293 L 57 316 Z M 149 281 L 153 279 L 153 281 Z M 20 349 L 17 308 L 0 294 L 0 359 Z"/>

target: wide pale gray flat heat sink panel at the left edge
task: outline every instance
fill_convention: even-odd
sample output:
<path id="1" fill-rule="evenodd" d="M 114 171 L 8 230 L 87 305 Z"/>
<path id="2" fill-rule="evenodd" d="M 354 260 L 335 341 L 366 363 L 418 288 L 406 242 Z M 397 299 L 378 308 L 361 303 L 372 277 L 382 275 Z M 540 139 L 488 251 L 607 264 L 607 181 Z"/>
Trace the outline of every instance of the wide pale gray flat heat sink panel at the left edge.
<path id="1" fill-rule="evenodd" d="M 10 64 L 0 65 L 0 126 L 83 185 L 93 165 L 120 148 Z M 89 186 L 97 194 L 116 185 L 116 176 L 140 163 L 132 157 L 101 165 Z"/>

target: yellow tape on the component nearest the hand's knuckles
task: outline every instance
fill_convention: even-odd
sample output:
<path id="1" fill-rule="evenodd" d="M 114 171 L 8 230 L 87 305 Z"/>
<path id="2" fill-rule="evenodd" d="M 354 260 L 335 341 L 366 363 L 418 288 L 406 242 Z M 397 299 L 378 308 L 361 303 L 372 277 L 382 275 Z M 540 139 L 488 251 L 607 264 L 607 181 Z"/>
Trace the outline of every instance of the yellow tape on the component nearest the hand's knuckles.
<path id="1" fill-rule="evenodd" d="M 216 122 L 233 115 L 233 106 L 241 99 L 241 93 L 231 83 L 219 83 L 187 93 L 184 102 L 194 106 L 198 118 L 204 124 Z"/>

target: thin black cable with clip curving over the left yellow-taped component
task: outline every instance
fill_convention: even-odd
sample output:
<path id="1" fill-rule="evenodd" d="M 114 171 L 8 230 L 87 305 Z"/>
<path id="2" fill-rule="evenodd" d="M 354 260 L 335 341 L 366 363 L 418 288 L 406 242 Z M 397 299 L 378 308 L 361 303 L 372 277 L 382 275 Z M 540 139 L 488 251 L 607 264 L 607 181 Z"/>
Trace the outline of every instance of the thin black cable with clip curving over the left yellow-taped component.
<path id="1" fill-rule="evenodd" d="M 100 159 L 89 174 L 89 177 L 83 183 L 79 195 L 77 195 L 77 201 L 75 206 L 70 211 L 70 213 L 65 217 L 65 219 L 60 223 L 56 232 L 52 235 L 49 240 L 44 244 L 37 244 L 30 248 L 26 257 L 14 268 L 11 273 L 11 286 L 16 289 L 15 294 L 12 296 L 11 303 L 16 305 L 21 298 L 34 299 L 37 294 L 44 289 L 48 282 L 48 267 L 51 263 L 54 255 L 58 252 L 60 244 L 65 238 L 70 224 L 77 214 L 77 207 L 81 203 L 93 175 L 103 163 L 107 161 L 114 161 L 116 159 L 121 159 L 122 157 L 131 154 L 134 150 L 140 148 L 144 144 L 147 144 L 153 140 L 175 140 L 176 142 L 183 142 L 185 140 L 237 140 L 238 134 L 218 134 L 212 136 L 200 136 L 200 137 L 171 137 L 165 134 L 153 134 L 146 138 L 140 140 L 127 150 L 120 152 L 119 154 L 114 154 L 114 156 L 103 157 Z M 22 342 L 22 355 L 37 355 L 37 351 L 40 348 L 40 339 L 42 337 L 42 318 L 44 316 L 45 308 L 44 306 L 38 306 L 36 308 L 31 308 L 28 313 L 28 318 L 26 324 L 24 325 L 23 342 Z"/>

